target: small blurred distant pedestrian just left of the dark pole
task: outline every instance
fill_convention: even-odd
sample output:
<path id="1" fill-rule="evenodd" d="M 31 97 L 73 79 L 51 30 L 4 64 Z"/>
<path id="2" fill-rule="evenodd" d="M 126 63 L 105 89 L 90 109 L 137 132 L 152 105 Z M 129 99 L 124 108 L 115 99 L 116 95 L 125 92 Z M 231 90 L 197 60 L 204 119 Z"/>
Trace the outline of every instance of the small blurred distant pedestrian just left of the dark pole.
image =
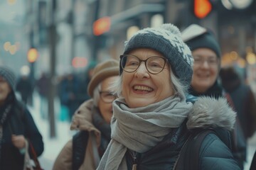
<path id="1" fill-rule="evenodd" d="M 48 91 L 50 88 L 50 78 L 46 73 L 42 73 L 41 77 L 36 81 L 36 89 L 40 96 L 40 113 L 41 118 L 48 118 Z"/>

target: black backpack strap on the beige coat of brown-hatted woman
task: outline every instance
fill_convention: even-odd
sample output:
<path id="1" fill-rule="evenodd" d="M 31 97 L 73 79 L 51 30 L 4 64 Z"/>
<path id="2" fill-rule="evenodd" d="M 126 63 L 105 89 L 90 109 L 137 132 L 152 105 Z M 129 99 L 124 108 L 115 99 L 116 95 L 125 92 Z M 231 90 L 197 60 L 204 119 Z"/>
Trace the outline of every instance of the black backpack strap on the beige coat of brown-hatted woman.
<path id="1" fill-rule="evenodd" d="M 89 132 L 79 131 L 73 136 L 72 169 L 77 170 L 85 159 Z"/>

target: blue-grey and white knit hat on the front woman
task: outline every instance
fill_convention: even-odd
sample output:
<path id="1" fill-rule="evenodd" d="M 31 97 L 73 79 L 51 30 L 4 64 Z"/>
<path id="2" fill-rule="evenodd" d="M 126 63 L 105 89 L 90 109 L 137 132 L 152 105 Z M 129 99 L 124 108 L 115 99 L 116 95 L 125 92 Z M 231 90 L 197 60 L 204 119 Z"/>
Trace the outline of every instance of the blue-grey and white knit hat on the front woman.
<path id="1" fill-rule="evenodd" d="M 150 48 L 161 52 L 171 64 L 174 75 L 181 83 L 191 84 L 193 74 L 193 57 L 191 50 L 181 39 L 181 32 L 171 23 L 165 23 L 159 28 L 144 28 L 135 33 L 124 44 L 124 55 L 137 48 Z M 122 67 L 120 66 L 120 74 Z"/>

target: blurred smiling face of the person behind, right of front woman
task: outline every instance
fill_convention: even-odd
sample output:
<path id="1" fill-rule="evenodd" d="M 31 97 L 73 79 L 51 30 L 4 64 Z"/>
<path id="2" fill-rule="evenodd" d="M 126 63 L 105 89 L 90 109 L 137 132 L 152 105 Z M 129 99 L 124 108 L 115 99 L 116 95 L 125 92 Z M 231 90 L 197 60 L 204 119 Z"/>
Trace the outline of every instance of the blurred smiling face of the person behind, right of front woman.
<path id="1" fill-rule="evenodd" d="M 199 93 L 206 92 L 218 77 L 219 60 L 215 52 L 208 48 L 198 48 L 192 52 L 194 58 L 191 86 Z"/>

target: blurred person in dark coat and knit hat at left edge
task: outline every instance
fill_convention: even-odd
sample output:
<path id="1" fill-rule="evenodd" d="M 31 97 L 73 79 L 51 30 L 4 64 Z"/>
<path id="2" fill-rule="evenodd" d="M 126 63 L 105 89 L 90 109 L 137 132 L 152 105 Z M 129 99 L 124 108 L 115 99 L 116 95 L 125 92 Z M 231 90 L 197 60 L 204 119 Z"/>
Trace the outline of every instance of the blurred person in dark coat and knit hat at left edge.
<path id="1" fill-rule="evenodd" d="M 23 169 L 25 154 L 32 157 L 33 145 L 37 156 L 43 152 L 43 140 L 31 113 L 15 96 L 15 75 L 0 66 L 0 167 L 1 170 Z"/>

